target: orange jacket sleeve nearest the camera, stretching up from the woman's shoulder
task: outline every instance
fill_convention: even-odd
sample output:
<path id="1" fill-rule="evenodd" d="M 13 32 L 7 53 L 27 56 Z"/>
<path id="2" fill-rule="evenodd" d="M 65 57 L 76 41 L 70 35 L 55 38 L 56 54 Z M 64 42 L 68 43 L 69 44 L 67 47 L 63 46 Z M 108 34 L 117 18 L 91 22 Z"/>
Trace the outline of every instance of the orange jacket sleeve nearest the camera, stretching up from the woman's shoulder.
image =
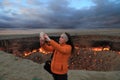
<path id="1" fill-rule="evenodd" d="M 59 51 L 62 54 L 69 54 L 71 53 L 71 46 L 70 45 L 65 45 L 65 46 L 61 46 L 60 44 L 58 44 L 57 42 L 55 42 L 54 40 L 50 41 L 50 45 L 57 51 Z"/>

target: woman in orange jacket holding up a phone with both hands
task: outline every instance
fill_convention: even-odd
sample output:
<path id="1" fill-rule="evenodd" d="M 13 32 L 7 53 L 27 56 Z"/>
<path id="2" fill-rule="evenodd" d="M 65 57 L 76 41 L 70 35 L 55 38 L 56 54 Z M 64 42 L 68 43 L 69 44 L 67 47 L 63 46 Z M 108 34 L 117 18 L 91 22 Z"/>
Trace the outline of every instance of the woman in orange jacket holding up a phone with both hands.
<path id="1" fill-rule="evenodd" d="M 43 38 L 43 39 L 41 39 Z M 68 80 L 68 60 L 73 51 L 73 43 L 68 33 L 61 34 L 59 43 L 42 33 L 40 45 L 47 51 L 54 51 L 51 62 L 51 71 L 54 80 Z M 46 43 L 47 41 L 49 43 Z"/>

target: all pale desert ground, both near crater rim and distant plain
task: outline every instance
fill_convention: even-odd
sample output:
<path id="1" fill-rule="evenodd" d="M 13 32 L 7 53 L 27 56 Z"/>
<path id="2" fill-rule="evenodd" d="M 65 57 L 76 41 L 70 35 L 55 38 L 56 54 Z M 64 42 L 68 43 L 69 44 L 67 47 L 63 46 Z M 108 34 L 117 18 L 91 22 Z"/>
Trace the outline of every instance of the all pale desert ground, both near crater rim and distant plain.
<path id="1" fill-rule="evenodd" d="M 94 30 L 0 30 L 0 39 L 6 39 L 7 35 L 26 35 L 46 33 L 69 32 L 72 35 L 111 35 L 120 36 L 120 29 L 94 29 Z M 28 35 L 27 35 L 28 36 Z M 8 36 L 7 36 L 8 37 Z M 17 37 L 17 36 L 16 36 Z M 26 37 L 26 36 L 24 36 Z M 8 37 L 9 39 L 11 37 Z M 15 37 L 14 37 L 15 38 Z M 53 80 L 52 76 L 43 69 L 43 64 L 37 64 L 31 60 L 16 57 L 4 51 L 0 51 L 0 80 Z M 68 80 L 120 80 L 120 71 L 87 71 L 69 70 Z"/>

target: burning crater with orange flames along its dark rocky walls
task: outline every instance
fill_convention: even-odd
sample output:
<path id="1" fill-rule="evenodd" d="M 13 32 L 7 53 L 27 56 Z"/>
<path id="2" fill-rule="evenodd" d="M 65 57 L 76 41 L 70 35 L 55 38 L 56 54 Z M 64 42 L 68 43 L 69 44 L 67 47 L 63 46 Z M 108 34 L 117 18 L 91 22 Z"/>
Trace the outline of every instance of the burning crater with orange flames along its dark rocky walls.
<path id="1" fill-rule="evenodd" d="M 58 36 L 51 36 L 58 41 Z M 74 53 L 69 69 L 111 71 L 120 70 L 120 37 L 103 35 L 72 36 Z M 0 50 L 44 63 L 51 56 L 39 45 L 39 37 L 1 39 Z"/>

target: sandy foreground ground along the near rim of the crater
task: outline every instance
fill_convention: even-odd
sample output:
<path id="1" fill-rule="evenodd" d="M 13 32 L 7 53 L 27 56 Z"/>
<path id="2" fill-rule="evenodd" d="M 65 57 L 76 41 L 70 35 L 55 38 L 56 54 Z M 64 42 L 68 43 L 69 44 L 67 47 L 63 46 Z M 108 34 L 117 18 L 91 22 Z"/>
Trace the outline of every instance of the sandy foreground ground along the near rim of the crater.
<path id="1" fill-rule="evenodd" d="M 0 51 L 0 80 L 53 80 L 43 65 Z M 120 71 L 69 70 L 68 80 L 120 80 Z"/>

